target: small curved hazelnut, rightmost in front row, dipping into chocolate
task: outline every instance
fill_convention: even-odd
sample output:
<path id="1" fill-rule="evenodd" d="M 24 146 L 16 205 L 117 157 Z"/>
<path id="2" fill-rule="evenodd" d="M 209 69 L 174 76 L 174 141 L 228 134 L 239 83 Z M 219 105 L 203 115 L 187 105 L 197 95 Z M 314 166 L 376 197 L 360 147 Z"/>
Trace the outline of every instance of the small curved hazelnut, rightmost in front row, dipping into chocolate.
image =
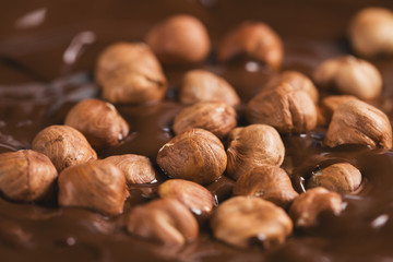
<path id="1" fill-rule="evenodd" d="M 342 212 L 342 196 L 324 188 L 313 188 L 296 198 L 290 205 L 289 216 L 296 227 L 310 227 L 317 224 L 322 212 L 340 215 Z"/>

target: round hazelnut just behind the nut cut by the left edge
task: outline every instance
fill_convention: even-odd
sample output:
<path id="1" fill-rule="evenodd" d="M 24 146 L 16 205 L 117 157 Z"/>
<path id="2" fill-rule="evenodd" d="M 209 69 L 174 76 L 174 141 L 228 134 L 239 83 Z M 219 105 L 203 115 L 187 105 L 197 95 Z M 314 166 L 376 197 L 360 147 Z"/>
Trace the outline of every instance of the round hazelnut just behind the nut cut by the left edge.
<path id="1" fill-rule="evenodd" d="M 97 159 L 85 136 L 69 126 L 50 126 L 33 140 L 32 148 L 47 155 L 60 172 L 66 167 Z"/>

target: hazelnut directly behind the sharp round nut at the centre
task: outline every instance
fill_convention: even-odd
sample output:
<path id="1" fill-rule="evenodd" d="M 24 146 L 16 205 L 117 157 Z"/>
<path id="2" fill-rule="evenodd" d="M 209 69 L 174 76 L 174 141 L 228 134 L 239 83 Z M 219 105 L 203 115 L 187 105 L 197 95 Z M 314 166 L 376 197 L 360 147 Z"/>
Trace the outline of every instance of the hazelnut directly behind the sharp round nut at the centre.
<path id="1" fill-rule="evenodd" d="M 200 102 L 181 110 L 175 118 L 172 129 L 179 134 L 200 128 L 222 139 L 236 126 L 236 111 L 231 106 L 224 102 Z"/>

